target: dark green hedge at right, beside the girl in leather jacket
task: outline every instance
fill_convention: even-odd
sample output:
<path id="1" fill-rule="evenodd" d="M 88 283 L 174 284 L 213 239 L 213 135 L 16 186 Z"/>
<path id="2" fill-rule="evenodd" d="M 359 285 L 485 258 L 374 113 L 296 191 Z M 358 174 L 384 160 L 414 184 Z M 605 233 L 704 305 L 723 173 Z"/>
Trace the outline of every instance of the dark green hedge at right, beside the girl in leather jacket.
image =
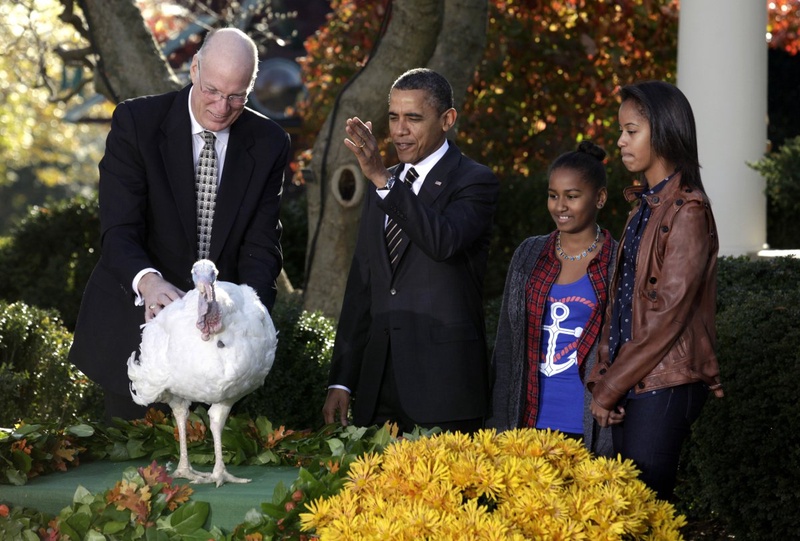
<path id="1" fill-rule="evenodd" d="M 720 260 L 718 355 L 725 389 L 686 448 L 682 511 L 716 515 L 737 539 L 794 539 L 800 522 L 800 261 Z"/>

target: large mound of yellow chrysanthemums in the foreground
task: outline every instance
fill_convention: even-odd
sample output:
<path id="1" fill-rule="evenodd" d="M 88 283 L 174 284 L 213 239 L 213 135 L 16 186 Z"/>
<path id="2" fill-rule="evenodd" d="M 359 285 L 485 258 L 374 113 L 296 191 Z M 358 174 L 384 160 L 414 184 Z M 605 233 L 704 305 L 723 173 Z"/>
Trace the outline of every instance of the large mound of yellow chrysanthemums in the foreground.
<path id="1" fill-rule="evenodd" d="M 326 541 L 682 539 L 685 518 L 637 473 L 557 432 L 443 433 L 365 455 L 300 519 Z"/>

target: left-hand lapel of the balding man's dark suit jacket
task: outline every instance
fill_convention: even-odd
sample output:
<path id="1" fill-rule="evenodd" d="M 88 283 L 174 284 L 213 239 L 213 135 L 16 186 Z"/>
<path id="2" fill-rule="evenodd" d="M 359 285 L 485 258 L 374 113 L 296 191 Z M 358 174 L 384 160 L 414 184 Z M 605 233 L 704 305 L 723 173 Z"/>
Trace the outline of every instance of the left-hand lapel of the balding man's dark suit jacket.
<path id="1" fill-rule="evenodd" d="M 189 121 L 189 87 L 175 97 L 161 124 L 161 159 L 172 190 L 186 242 L 197 246 L 197 202 L 194 188 L 192 125 Z"/>

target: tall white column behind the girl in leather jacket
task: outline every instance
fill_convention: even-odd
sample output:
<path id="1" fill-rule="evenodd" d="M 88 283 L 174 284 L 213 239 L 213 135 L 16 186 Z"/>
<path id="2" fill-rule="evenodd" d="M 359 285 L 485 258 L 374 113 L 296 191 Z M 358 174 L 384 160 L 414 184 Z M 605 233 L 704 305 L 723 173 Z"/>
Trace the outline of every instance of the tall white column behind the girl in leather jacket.
<path id="1" fill-rule="evenodd" d="M 697 122 L 720 255 L 754 254 L 767 240 L 765 183 L 746 164 L 767 150 L 766 31 L 766 0 L 681 2 L 678 87 Z"/>

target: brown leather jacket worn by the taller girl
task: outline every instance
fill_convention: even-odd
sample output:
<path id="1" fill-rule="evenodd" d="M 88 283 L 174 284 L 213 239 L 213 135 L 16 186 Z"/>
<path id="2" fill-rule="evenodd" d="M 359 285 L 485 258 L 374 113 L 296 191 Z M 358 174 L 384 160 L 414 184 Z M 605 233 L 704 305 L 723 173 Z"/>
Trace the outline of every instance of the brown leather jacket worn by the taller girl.
<path id="1" fill-rule="evenodd" d="M 644 189 L 626 188 L 625 199 L 636 200 Z M 682 188 L 678 174 L 648 197 L 648 204 L 652 213 L 639 245 L 633 286 L 632 339 L 609 364 L 609 325 L 624 257 L 620 242 L 598 362 L 588 379 L 593 400 L 609 410 L 631 388 L 644 393 L 703 381 L 718 397 L 723 395 L 715 353 L 719 240 L 708 198 Z"/>

